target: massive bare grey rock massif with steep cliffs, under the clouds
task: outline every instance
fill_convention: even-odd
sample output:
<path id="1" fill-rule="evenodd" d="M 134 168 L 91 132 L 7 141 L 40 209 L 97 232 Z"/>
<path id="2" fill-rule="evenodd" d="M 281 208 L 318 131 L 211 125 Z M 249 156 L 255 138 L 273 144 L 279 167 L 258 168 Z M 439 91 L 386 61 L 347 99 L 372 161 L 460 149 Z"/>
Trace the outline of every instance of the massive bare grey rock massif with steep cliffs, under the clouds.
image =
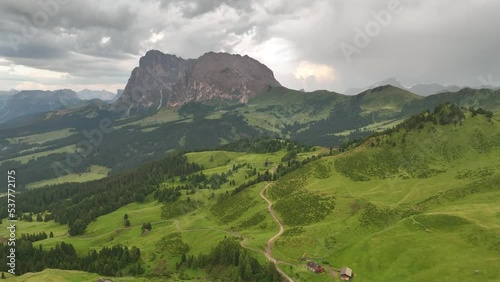
<path id="1" fill-rule="evenodd" d="M 190 101 L 245 103 L 278 86 L 273 72 L 248 56 L 209 52 L 185 60 L 151 50 L 140 59 L 113 107 L 130 112 L 178 107 Z"/>

